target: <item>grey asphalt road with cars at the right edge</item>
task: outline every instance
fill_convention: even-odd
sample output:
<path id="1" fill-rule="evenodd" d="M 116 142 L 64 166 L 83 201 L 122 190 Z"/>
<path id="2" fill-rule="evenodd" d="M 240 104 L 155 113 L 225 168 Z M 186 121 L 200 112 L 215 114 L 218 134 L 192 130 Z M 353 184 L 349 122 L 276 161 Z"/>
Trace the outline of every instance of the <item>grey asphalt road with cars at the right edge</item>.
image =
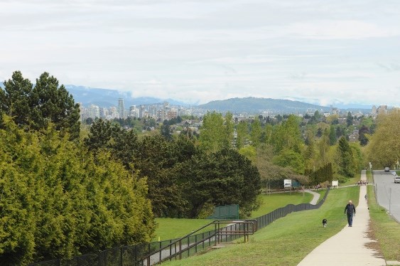
<path id="1" fill-rule="evenodd" d="M 394 183 L 392 170 L 374 170 L 375 192 L 380 206 L 390 211 L 400 223 L 400 183 Z"/>

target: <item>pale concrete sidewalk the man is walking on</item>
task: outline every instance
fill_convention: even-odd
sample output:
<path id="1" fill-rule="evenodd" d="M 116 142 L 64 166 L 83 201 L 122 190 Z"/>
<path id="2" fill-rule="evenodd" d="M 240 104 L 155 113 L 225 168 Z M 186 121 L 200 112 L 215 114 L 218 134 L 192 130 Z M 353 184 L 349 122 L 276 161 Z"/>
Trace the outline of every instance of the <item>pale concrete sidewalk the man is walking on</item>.
<path id="1" fill-rule="evenodd" d="M 366 179 L 362 171 L 361 179 Z M 367 186 L 360 186 L 360 199 L 356 208 L 356 216 L 352 227 L 343 228 L 332 238 L 325 240 L 315 250 L 310 252 L 298 265 L 299 266 L 338 266 L 338 265 L 387 265 L 384 258 L 376 250 L 367 248 L 368 243 L 374 240 L 368 238 L 369 211 L 365 194 Z M 349 198 L 350 200 L 351 198 Z M 343 206 L 343 212 L 345 206 Z M 343 216 L 345 214 L 343 213 Z"/>

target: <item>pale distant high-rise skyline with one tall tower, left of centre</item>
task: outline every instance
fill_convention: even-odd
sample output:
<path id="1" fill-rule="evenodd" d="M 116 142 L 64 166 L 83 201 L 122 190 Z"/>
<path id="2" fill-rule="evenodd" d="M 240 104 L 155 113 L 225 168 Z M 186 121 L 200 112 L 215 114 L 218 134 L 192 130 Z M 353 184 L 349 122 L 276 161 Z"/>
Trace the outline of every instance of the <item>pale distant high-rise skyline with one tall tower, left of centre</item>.
<path id="1" fill-rule="evenodd" d="M 125 107 L 123 98 L 119 98 L 118 105 L 112 107 L 99 107 L 93 104 L 89 107 L 80 105 L 81 121 L 85 121 L 88 118 L 126 119 L 128 117 L 153 118 L 158 121 L 164 121 L 165 119 L 169 120 L 181 115 L 191 115 L 190 109 L 171 107 L 168 102 L 158 105 L 131 105 L 129 109 Z"/>

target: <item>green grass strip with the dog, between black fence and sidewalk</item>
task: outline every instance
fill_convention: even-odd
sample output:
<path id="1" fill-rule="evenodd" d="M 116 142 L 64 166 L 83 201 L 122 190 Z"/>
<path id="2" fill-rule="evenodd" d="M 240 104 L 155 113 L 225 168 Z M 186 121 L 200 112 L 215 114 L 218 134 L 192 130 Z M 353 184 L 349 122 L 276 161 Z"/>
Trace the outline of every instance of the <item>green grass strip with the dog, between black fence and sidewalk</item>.
<path id="1" fill-rule="evenodd" d="M 298 265 L 320 243 L 345 227 L 343 210 L 349 199 L 357 205 L 360 187 L 333 189 L 318 210 L 291 213 L 259 230 L 243 243 L 211 250 L 185 260 L 164 262 L 163 265 Z M 323 228 L 321 220 L 328 219 Z"/>

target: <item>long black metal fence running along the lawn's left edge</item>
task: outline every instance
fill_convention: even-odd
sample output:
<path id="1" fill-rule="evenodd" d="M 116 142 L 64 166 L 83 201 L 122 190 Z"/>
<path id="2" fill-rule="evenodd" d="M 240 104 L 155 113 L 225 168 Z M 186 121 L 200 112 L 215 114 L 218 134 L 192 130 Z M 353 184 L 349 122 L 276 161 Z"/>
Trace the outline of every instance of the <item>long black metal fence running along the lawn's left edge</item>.
<path id="1" fill-rule="evenodd" d="M 328 188 L 328 191 L 326 191 L 323 199 L 320 200 L 315 205 L 312 205 L 310 203 L 301 203 L 298 205 L 289 204 L 285 207 L 277 208 L 276 210 L 271 211 L 271 213 L 267 213 L 264 216 L 256 218 L 255 220 L 257 221 L 257 227 L 259 229 L 264 228 L 266 225 L 269 225 L 270 223 L 274 222 L 274 220 L 283 218 L 284 216 L 288 215 L 289 213 L 293 213 L 293 212 L 297 212 L 297 211 L 308 211 L 308 210 L 318 209 L 325 202 L 325 199 L 328 196 L 328 193 L 329 193 L 329 188 Z M 233 225 L 230 225 L 230 226 L 233 226 Z M 214 235 L 215 235 L 215 230 L 210 230 L 205 233 L 188 235 L 187 238 L 181 238 L 182 245 L 189 246 L 190 243 L 200 243 L 198 245 L 192 245 L 192 248 L 188 248 L 187 250 L 185 250 L 183 257 L 188 257 L 197 252 L 205 250 L 206 248 L 209 248 L 212 245 L 215 245 L 216 239 L 215 239 L 215 237 L 213 237 Z M 223 235 L 220 238 L 220 240 L 218 240 L 218 241 L 227 243 L 227 242 L 231 242 L 232 240 L 235 240 L 237 238 L 240 238 L 240 235 L 227 235 L 226 234 L 226 235 Z M 175 238 L 172 240 L 159 241 L 159 242 L 146 243 L 146 244 L 137 244 L 137 245 L 132 245 L 132 246 L 121 246 L 119 248 L 112 248 L 112 249 L 104 250 L 97 254 L 89 254 L 89 255 L 81 255 L 81 256 L 72 257 L 72 259 L 70 259 L 70 260 L 67 260 L 67 259 L 48 260 L 45 262 L 31 263 L 29 266 L 93 266 L 93 265 L 96 265 L 96 266 L 144 266 L 147 264 L 147 262 L 144 261 L 144 257 L 146 257 L 148 254 L 155 252 L 156 250 L 164 250 L 164 248 L 166 248 L 168 246 L 171 247 L 171 243 L 174 243 L 176 240 L 179 240 L 179 238 Z M 170 248 L 169 250 L 164 251 L 164 252 L 169 252 L 170 255 L 173 255 L 173 252 L 175 252 L 175 250 L 176 250 L 175 248 Z M 155 256 L 156 257 L 158 256 L 159 260 L 154 260 L 154 262 L 152 264 L 163 260 L 163 255 L 161 254 L 161 252 L 159 252 L 159 254 L 157 254 Z"/>

